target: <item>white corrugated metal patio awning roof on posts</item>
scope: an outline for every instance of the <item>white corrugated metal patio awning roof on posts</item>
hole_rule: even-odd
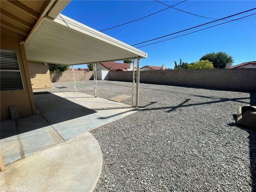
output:
[[[32,61],[82,64],[146,58],[147,53],[59,14],[44,18],[25,44]]]

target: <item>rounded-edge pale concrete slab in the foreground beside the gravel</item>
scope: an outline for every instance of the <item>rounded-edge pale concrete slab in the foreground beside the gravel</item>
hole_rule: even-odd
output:
[[[6,166],[1,191],[93,191],[101,169],[99,143],[86,132]]]

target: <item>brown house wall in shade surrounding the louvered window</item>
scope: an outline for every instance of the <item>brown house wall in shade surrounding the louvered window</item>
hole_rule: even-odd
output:
[[[26,116],[36,113],[34,95],[30,83],[30,75],[26,60],[26,53],[23,44],[19,43],[19,38],[8,35],[1,31],[1,48],[16,50],[20,65],[23,90],[1,91],[1,120],[10,119],[9,106],[17,106],[19,116]]]

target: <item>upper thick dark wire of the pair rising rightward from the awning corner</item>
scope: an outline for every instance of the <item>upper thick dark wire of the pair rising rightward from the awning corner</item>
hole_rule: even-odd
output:
[[[164,35],[164,36],[161,36],[161,37],[156,37],[156,38],[153,38],[153,39],[149,39],[149,40],[147,40],[147,41],[143,41],[143,42],[140,42],[140,43],[133,44],[132,46],[139,45],[139,44],[142,44],[142,43],[147,43],[147,42],[154,41],[154,40],[159,39],[159,38],[164,38],[164,37],[167,37],[167,36],[171,36],[171,35],[174,35],[174,34],[178,34],[178,33],[181,33],[181,32],[183,32],[183,31],[187,31],[187,30],[194,29],[194,28],[197,28],[197,27],[205,26],[205,25],[207,25],[207,24],[209,24],[209,23],[213,23],[213,22],[217,22],[217,21],[220,21],[220,20],[223,20],[223,19],[227,19],[227,18],[230,18],[230,17],[234,17],[234,16],[236,16],[236,15],[243,14],[243,13],[246,13],[246,12],[249,12],[249,11],[253,11],[253,10],[255,10],[255,9],[256,9],[256,8],[253,8],[253,9],[246,10],[246,11],[243,11],[243,12],[239,12],[239,13],[236,13],[236,14],[233,14],[233,15],[229,15],[229,16],[227,16],[227,17],[220,18],[220,19],[217,19],[217,20],[214,20],[214,21],[206,22],[206,23],[203,23],[203,24],[198,25],[198,26],[190,27],[190,28],[188,28],[188,29],[183,29],[183,30],[177,31],[177,32],[175,32],[175,33],[171,33],[171,34],[167,34],[167,35]]]

